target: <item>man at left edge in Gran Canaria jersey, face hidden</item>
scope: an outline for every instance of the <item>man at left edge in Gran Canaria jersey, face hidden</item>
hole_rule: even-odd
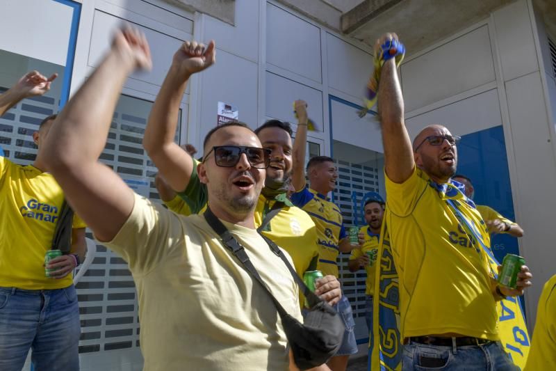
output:
[[[0,113],[26,97],[43,95],[47,79],[33,71],[0,95]],[[73,255],[51,260],[58,270],[45,276],[64,194],[44,164],[43,143],[54,118],[40,123],[33,141],[33,164],[20,166],[0,157],[0,370],[20,371],[31,352],[37,370],[79,370],[79,306],[72,271],[85,254],[85,224],[74,216]]]

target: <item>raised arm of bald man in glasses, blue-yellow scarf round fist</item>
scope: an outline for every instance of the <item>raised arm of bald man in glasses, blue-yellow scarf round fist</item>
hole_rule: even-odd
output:
[[[375,45],[379,53],[384,42],[398,40],[395,33],[386,33]],[[411,140],[404,123],[404,100],[394,58],[384,62],[378,88],[378,111],[384,144],[384,168],[395,183],[409,178],[415,167]]]

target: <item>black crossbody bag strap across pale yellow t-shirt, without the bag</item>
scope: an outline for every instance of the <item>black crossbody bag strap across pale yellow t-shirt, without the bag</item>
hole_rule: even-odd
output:
[[[272,299],[272,301],[275,303],[275,306],[278,310],[280,317],[284,317],[285,315],[288,315],[284,307],[281,306],[281,304],[272,294],[268,286],[264,283],[263,279],[259,275],[259,271],[256,270],[253,263],[249,259],[247,252],[245,252],[245,248],[241,246],[241,244],[236,240],[236,238],[231,234],[231,232],[227,230],[224,224],[222,224],[222,222],[213,214],[211,208],[207,207],[203,215],[208,225],[211,226],[211,228],[213,228],[213,230],[216,233],[218,233],[218,235],[220,235],[220,238],[222,238],[222,243],[224,244],[224,246],[226,246],[229,249],[229,251],[231,251],[231,253],[234,254],[234,256],[241,262],[241,264],[243,264],[243,267],[247,269],[247,271],[251,274],[251,276],[253,276],[253,278],[255,278],[256,281],[258,281],[261,284],[261,286],[268,294],[270,299]],[[268,246],[270,247],[270,250],[276,255],[278,255],[281,258],[281,260],[283,260],[286,263],[286,267],[288,267],[290,273],[292,274],[293,278],[297,282],[297,285],[300,285],[300,287],[302,287],[303,293],[306,295],[306,297],[311,297],[312,295],[311,299],[309,299],[309,303],[311,304],[311,307],[313,306],[313,303],[315,303],[316,305],[317,303],[322,301],[322,299],[320,299],[319,297],[316,296],[316,294],[311,292],[311,290],[309,290],[309,287],[306,287],[304,282],[299,278],[299,276],[297,276],[297,273],[295,273],[295,269],[293,269],[291,264],[288,262],[288,259],[286,259],[284,254],[281,252],[280,248],[276,246],[274,242],[270,241],[270,239],[268,239],[267,237],[263,235],[261,236],[263,237],[263,239],[265,239],[265,242],[267,242]]]

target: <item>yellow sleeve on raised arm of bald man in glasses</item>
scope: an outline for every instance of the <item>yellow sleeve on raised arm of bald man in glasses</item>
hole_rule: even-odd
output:
[[[426,187],[429,187],[427,180],[424,179],[423,171],[414,168],[411,176],[403,183],[395,183],[390,180],[386,172],[386,205],[393,214],[407,216],[414,210],[419,197],[423,194]]]

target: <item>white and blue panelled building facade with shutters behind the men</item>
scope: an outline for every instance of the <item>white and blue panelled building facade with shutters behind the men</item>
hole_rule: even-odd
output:
[[[200,148],[217,123],[219,102],[255,128],[270,118],[295,123],[293,101],[306,100],[316,127],[309,132],[308,157],[335,159],[340,177],[332,196],[347,225],[364,223],[366,196],[386,196],[379,123],[371,114],[357,116],[371,48],[284,1],[231,3],[234,17],[217,19],[163,0],[3,1],[0,29],[11,37],[0,39],[0,88],[28,70],[60,75],[47,95],[24,100],[0,118],[5,156],[20,164],[33,160],[31,135],[40,120],[58,111],[92,73],[113,29],[130,22],[147,35],[154,68],[126,81],[101,160],[131,187],[158,199],[156,168],[141,145],[152,102],[181,42],[214,39],[217,63],[191,79],[176,141]],[[29,8],[35,19],[29,19]],[[535,286],[525,297],[531,330],[542,283],[556,273],[555,76],[556,35],[550,38],[531,0],[508,3],[441,42],[408,50],[401,66],[410,135],[441,123],[462,136],[458,172],[473,179],[477,203],[516,219],[525,230],[519,241],[494,237],[493,249],[500,259],[523,255],[534,273]],[[347,258],[338,258],[341,281],[366,354],[365,274],[350,273]],[[125,262],[99,245],[78,293],[82,370],[140,370],[138,305]]]

